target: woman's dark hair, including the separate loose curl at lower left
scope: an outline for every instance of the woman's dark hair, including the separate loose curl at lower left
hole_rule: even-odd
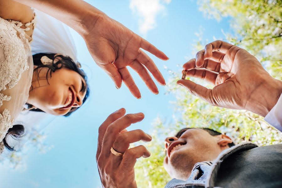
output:
[[[49,59],[53,60],[52,63],[44,65],[41,62],[41,57],[47,56]],[[74,70],[76,71],[82,78],[85,80],[86,83],[86,95],[82,100],[82,104],[86,101],[87,97],[89,96],[89,87],[87,84],[87,76],[85,72],[70,58],[69,56],[64,56],[64,55],[56,55],[56,54],[45,54],[45,53],[40,53],[40,54],[35,54],[32,56],[33,57],[33,64],[36,65],[37,67],[33,70],[34,72],[37,71],[38,74],[40,72],[40,69],[43,67],[49,68],[47,73],[46,73],[46,79],[48,81],[48,76],[52,76],[52,72],[55,72],[58,69],[61,69],[62,67],[66,67],[67,69]],[[57,58],[58,61],[54,63],[54,60]],[[32,89],[32,88],[31,88]],[[28,107],[32,107],[30,104],[27,104]],[[78,107],[79,108],[79,107]],[[76,111],[78,108],[72,108],[66,115],[65,117],[68,117],[69,115],[72,114],[72,112]],[[40,109],[32,109],[31,111],[37,111],[37,112],[43,112]],[[20,137],[24,136],[24,126],[23,125],[14,125],[12,128],[9,128],[8,133],[6,134],[5,138],[3,138],[3,144],[4,146],[10,150],[13,151],[14,148],[11,147],[7,143],[7,138],[8,136],[12,136],[14,139],[18,139]]]

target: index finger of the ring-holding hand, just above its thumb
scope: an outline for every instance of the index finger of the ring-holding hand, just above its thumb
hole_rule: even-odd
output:
[[[187,70],[186,76],[204,80],[208,82],[209,84],[212,84],[215,86],[215,80],[217,77],[217,73],[212,72],[210,70],[206,70],[206,69],[192,69],[192,70]]]

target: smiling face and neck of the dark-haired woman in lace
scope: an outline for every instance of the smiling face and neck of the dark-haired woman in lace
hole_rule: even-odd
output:
[[[76,110],[83,104],[88,89],[85,74],[80,69],[72,70],[76,64],[70,58],[62,57],[56,56],[54,63],[47,67],[36,66],[34,58],[34,73],[27,101],[33,107],[53,115],[66,115]],[[55,71],[52,70],[53,66],[56,67]]]

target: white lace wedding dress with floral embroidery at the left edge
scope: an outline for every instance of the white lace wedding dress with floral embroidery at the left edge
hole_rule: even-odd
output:
[[[29,43],[34,27],[35,19],[22,24],[0,18],[0,142],[29,96],[33,74]]]

